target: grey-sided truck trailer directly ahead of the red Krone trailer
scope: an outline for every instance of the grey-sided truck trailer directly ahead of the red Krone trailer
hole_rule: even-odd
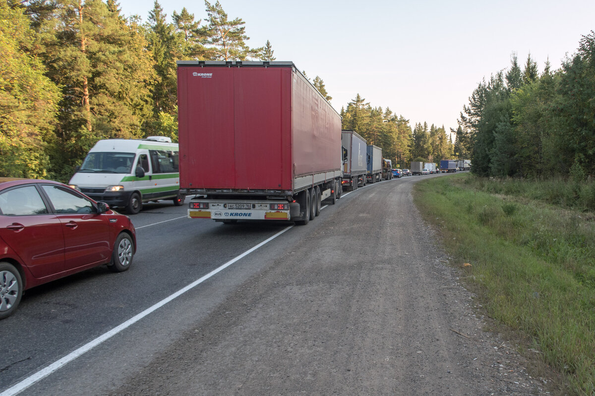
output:
[[[364,138],[349,130],[341,131],[341,144],[347,150],[343,157],[342,187],[353,191],[359,185],[366,185],[368,145]]]

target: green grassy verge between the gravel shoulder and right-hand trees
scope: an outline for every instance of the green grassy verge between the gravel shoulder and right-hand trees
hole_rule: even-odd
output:
[[[464,281],[488,315],[530,337],[572,392],[595,395],[595,216],[586,197],[560,198],[577,186],[585,195],[562,180],[465,173],[417,183],[414,199],[456,262],[471,264]]]

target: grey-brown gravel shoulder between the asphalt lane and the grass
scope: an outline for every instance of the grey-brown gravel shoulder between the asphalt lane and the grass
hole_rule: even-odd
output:
[[[411,186],[382,183],[326,208],[112,394],[547,394],[516,346],[484,330]]]

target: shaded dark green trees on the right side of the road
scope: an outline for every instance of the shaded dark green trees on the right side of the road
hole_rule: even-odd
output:
[[[463,107],[455,151],[480,176],[543,178],[595,172],[595,33],[543,72],[528,55],[478,84]]]

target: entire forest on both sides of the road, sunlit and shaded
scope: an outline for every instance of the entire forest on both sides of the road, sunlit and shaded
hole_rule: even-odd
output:
[[[208,0],[201,17],[182,8],[171,21],[155,1],[144,23],[115,0],[0,2],[0,176],[67,181],[100,139],[177,141],[176,61],[275,60],[269,41],[246,44],[245,25]],[[311,83],[332,101],[321,77]],[[344,129],[401,167],[471,159],[480,176],[586,179],[595,172],[595,33],[559,69],[546,62],[539,72],[531,55],[519,65],[513,53],[471,93],[456,131],[412,128],[359,93],[340,113]]]

